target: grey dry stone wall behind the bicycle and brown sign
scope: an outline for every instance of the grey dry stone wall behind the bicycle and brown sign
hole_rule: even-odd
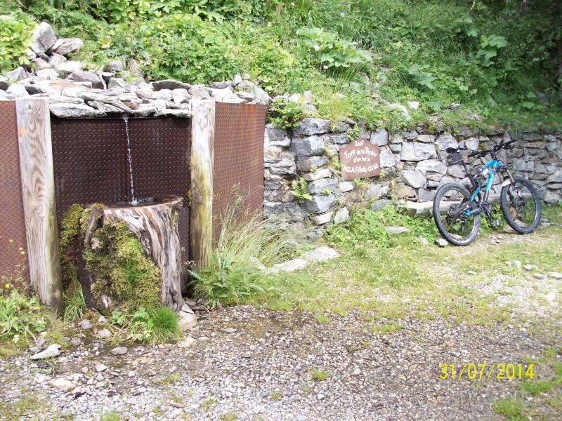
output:
[[[490,149],[499,142],[516,139],[514,147],[498,157],[518,174],[532,180],[544,201],[562,201],[562,133],[481,132],[459,126],[453,132],[417,130],[389,134],[384,128],[362,131],[360,137],[380,148],[381,175],[344,181],[339,166],[339,149],[349,142],[353,121],[330,128],[330,121],[304,119],[285,131],[266,127],[264,161],[264,203],[266,215],[280,215],[290,222],[325,225],[342,222],[351,206],[377,210],[390,201],[432,201],[447,182],[469,184],[461,165],[447,166],[447,147],[469,151]],[[489,158],[488,158],[489,159]],[[469,159],[478,168],[488,159]],[[306,180],[312,199],[299,203],[292,182]],[[499,193],[499,180],[492,192]]]

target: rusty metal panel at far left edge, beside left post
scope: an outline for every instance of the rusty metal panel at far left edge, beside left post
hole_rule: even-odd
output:
[[[27,253],[27,241],[15,102],[0,101],[0,127],[0,273],[18,276],[25,266],[25,255],[19,248]],[[30,289],[27,270],[22,273],[22,278],[23,282],[15,283],[15,286],[27,291]]]

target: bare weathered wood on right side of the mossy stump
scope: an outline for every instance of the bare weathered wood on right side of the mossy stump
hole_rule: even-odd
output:
[[[137,236],[145,254],[160,269],[162,304],[179,312],[183,307],[183,298],[178,210],[183,204],[183,198],[155,196],[154,199],[136,206],[107,206],[103,208],[103,218],[125,222]]]

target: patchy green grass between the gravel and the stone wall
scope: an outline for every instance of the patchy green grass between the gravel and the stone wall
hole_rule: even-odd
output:
[[[560,218],[559,209],[547,210],[549,218]],[[330,312],[345,316],[355,310],[369,320],[384,320],[389,325],[400,325],[400,319],[407,314],[483,326],[523,323],[528,319],[518,315],[518,305],[505,305],[502,300],[511,302],[511,288],[522,287],[528,303],[548,305],[532,272],[562,271],[562,229],[554,225],[527,236],[506,228],[481,234],[468,247],[439,248],[431,242],[421,246],[414,241],[415,234],[404,240],[389,242],[384,237],[379,241],[377,234],[384,231],[384,223],[376,220],[372,222],[376,227],[371,229],[363,223],[365,220],[360,222],[338,229],[334,243],[341,252],[339,258],[266,276],[262,280],[263,293],[253,295],[247,302],[268,302],[272,309],[307,309],[319,323],[328,322]],[[430,229],[425,225],[416,227],[416,221],[400,223],[413,226],[411,232]],[[391,219],[388,225],[397,224]],[[360,229],[373,232],[370,241],[362,241],[367,234]],[[499,234],[504,239],[490,244],[490,237]],[[518,269],[513,260],[536,265],[537,269]],[[499,274],[503,276],[499,289],[486,293],[481,286]],[[553,283],[552,288],[562,293],[562,286]],[[551,313],[551,321],[561,318],[559,312]],[[549,326],[556,330],[556,323]]]

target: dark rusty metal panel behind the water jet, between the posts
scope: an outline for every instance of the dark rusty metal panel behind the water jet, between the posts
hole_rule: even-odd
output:
[[[129,119],[135,196],[190,189],[191,119]],[[53,119],[55,196],[60,220],[73,203],[131,201],[123,119]],[[182,260],[189,259],[189,209],[180,211]]]

